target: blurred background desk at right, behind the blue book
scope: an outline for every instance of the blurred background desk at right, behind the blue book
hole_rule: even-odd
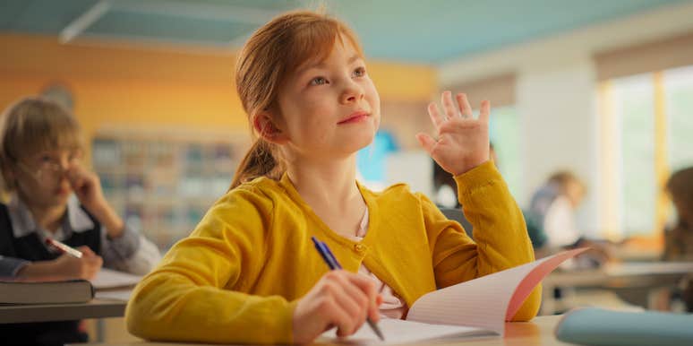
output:
[[[555,311],[557,287],[642,289],[675,286],[693,273],[693,262],[624,262],[600,269],[552,272],[543,281],[542,315]]]

